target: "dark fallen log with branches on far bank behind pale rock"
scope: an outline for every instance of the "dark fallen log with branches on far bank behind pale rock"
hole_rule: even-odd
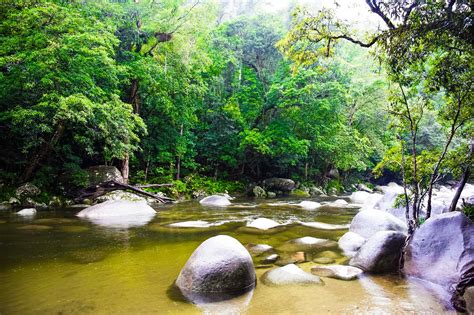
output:
[[[130,190],[139,195],[144,195],[146,197],[153,198],[160,203],[172,203],[175,201],[174,199],[171,199],[168,197],[157,196],[155,194],[144,191],[143,189],[140,189],[138,187],[128,185],[128,184],[123,184],[115,180],[102,182],[100,184],[82,189],[79,193],[79,196],[75,198],[74,201],[82,202],[84,199],[96,199],[97,197],[100,197],[102,195],[105,195],[108,192],[115,191],[115,190]]]

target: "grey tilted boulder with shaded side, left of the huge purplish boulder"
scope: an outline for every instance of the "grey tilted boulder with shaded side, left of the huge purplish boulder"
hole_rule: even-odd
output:
[[[349,264],[371,273],[396,271],[405,239],[401,232],[377,232],[362,245]]]

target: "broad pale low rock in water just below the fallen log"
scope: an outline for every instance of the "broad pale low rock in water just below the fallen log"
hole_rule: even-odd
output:
[[[155,214],[145,201],[110,200],[86,208],[77,214],[80,218],[104,218]]]

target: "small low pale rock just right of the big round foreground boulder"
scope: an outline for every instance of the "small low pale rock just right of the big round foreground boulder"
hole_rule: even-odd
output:
[[[288,284],[324,284],[324,282],[318,276],[307,273],[294,264],[289,264],[284,267],[275,268],[265,272],[262,276],[262,282],[270,286]]]

